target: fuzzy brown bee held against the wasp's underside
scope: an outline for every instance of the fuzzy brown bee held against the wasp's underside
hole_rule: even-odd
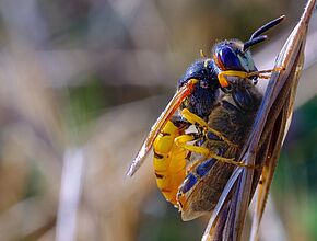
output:
[[[222,157],[237,158],[248,137],[261,97],[251,81],[236,81],[231,91],[220,97],[209,115],[208,124],[238,147],[232,147],[212,136],[207,138],[202,146]],[[186,202],[181,215],[184,220],[191,220],[213,210],[234,169],[233,164],[191,153],[190,160],[197,162],[197,159],[200,164],[190,173],[185,194]],[[258,176],[255,179],[258,180]]]

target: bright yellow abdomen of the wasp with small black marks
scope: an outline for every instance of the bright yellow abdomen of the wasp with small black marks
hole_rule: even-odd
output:
[[[186,156],[184,148],[175,145],[174,139],[184,135],[184,129],[167,122],[153,144],[156,184],[166,200],[177,205],[176,194],[186,176]]]

